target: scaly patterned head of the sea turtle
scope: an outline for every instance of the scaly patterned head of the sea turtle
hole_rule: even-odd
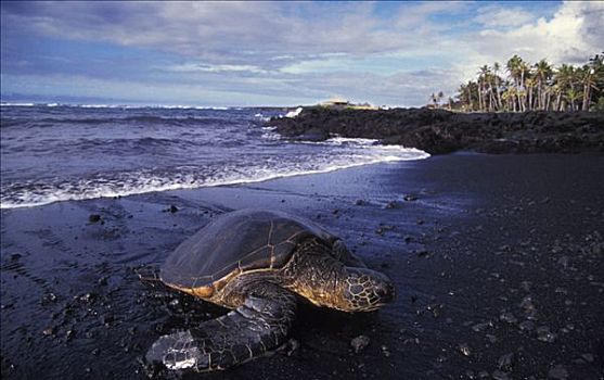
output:
[[[373,312],[395,297],[395,287],[386,275],[368,268],[346,267],[342,278],[340,303],[343,312]]]

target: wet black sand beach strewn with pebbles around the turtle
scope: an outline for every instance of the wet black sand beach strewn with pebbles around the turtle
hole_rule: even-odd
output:
[[[137,268],[253,206],[343,237],[397,299],[365,315],[301,307],[297,349],[184,378],[601,379],[602,173],[602,155],[454,154],[4,210],[2,378],[147,378],[155,339],[223,311],[145,286]],[[359,335],[370,343],[355,353]]]

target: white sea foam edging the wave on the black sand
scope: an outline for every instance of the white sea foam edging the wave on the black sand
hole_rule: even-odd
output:
[[[119,179],[80,179],[75,182],[60,183],[53,189],[42,187],[38,190],[23,190],[18,194],[13,193],[11,199],[7,199],[3,194],[0,201],[0,208],[30,207],[60,201],[126,197],[155,191],[261,182],[274,178],[329,173],[377,163],[422,160],[429,156],[428,153],[417,149],[400,145],[376,145],[375,141],[372,139],[333,138],[319,142],[319,144],[333,144],[334,147],[348,144],[352,149],[345,154],[323,156],[314,162],[305,160],[281,166],[252,166],[246,167],[245,170],[236,166],[226,166],[214,168],[211,175],[204,173],[198,175],[192,173],[190,167],[183,166],[180,167],[182,173],[179,174],[177,170],[176,174],[169,177],[162,177],[145,172],[132,172],[121,176]],[[28,185],[33,183],[21,183],[22,188],[31,188]]]

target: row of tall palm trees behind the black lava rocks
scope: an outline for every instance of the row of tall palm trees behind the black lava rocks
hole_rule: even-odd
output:
[[[557,67],[544,59],[531,64],[516,54],[504,67],[496,62],[476,74],[444,105],[442,91],[433,93],[429,106],[465,112],[604,111],[604,52],[582,66]]]

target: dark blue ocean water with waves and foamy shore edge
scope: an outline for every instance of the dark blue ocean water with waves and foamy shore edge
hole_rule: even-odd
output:
[[[277,111],[1,106],[2,208],[261,181],[426,153],[374,140],[285,141]]]

